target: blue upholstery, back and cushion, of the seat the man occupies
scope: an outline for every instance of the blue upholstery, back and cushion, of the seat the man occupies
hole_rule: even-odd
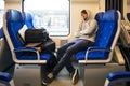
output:
[[[87,59],[104,60],[108,58],[110,46],[117,31],[118,13],[116,10],[109,10],[105,13],[101,12],[95,15],[95,19],[99,24],[99,31],[95,38],[94,46],[88,48],[88,51],[91,49],[91,52],[88,54]],[[84,58],[86,51],[76,54],[77,61],[84,60]]]

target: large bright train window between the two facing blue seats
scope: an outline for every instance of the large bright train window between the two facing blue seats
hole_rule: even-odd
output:
[[[24,11],[34,16],[35,27],[44,27],[50,35],[69,34],[69,0],[25,0]]]

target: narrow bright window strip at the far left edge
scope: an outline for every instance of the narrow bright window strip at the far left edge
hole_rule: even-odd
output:
[[[3,26],[4,0],[0,0],[0,28]]]

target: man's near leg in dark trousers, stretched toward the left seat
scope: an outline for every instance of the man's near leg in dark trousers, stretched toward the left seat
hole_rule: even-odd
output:
[[[61,58],[61,60],[58,61],[58,63],[54,67],[52,73],[54,75],[57,75],[58,72],[63,69],[64,66],[66,66],[69,60],[70,57],[76,54],[79,51],[83,51],[87,49],[88,46],[91,46],[93,43],[87,40],[78,40],[75,44],[73,44],[72,46],[69,46],[66,49],[66,53],[64,54],[64,56]]]

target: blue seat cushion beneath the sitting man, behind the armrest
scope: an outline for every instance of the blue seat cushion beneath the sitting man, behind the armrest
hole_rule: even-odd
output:
[[[76,60],[84,60],[84,56],[86,56],[86,51],[83,52],[79,52],[76,54]],[[104,52],[94,52],[94,53],[90,53],[88,55],[89,60],[104,60],[107,59],[108,57],[108,53],[104,53]]]

